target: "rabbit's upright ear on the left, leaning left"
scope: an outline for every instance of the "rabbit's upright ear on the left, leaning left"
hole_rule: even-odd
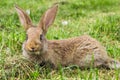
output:
[[[21,24],[24,26],[25,30],[27,30],[29,27],[32,26],[32,21],[30,17],[18,6],[15,6],[15,9],[18,13]]]

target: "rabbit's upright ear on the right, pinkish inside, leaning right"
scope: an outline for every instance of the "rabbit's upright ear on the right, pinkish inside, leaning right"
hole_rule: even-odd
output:
[[[43,14],[38,27],[42,28],[44,34],[46,34],[48,27],[54,22],[57,9],[58,5],[55,4]]]

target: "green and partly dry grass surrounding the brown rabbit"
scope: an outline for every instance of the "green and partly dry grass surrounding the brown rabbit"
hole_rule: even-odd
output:
[[[59,11],[46,37],[65,39],[89,34],[101,42],[108,55],[120,60],[119,0],[4,0],[0,2],[0,79],[1,80],[119,80],[120,70],[71,69],[51,70],[23,58],[21,46],[25,31],[14,4],[30,10],[35,24],[52,4],[59,2]],[[68,21],[63,25],[62,21]]]

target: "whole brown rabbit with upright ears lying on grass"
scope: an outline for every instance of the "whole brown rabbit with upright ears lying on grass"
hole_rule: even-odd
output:
[[[65,39],[47,40],[48,27],[54,22],[58,5],[49,8],[37,26],[19,7],[15,7],[21,24],[24,26],[27,39],[23,43],[23,55],[37,63],[50,62],[55,68],[58,65],[77,65],[80,68],[105,66],[110,69],[120,68],[120,62],[113,60],[101,44],[88,35]]]

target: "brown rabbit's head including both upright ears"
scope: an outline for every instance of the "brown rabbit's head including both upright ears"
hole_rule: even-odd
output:
[[[15,6],[21,24],[26,31],[26,41],[24,42],[24,49],[29,54],[41,54],[47,49],[45,34],[48,27],[54,22],[58,5],[49,8],[41,17],[37,26],[32,24],[30,17],[18,6]]]

